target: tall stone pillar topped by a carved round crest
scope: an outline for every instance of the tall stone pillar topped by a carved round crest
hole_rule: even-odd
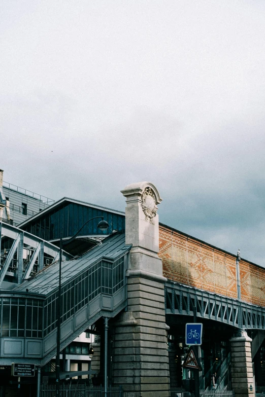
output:
[[[118,316],[113,333],[113,381],[125,397],[168,397],[169,360],[164,312],[162,262],[158,257],[157,204],[154,185],[129,185],[125,240],[131,244],[127,270],[127,312]]]

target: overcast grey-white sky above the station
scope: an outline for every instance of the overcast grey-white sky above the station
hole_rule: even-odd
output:
[[[0,168],[265,266],[264,0],[2,0]]]

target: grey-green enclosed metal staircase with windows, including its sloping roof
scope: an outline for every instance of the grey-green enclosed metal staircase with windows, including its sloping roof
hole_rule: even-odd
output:
[[[117,233],[82,257],[62,262],[60,351],[100,317],[114,317],[124,309],[129,250],[124,234]],[[8,324],[4,326],[3,365],[10,365],[16,357],[17,363],[26,358],[28,364],[44,366],[56,354],[58,274],[57,262],[12,291],[0,292],[5,296],[4,313],[16,305],[18,324],[21,311],[25,327],[12,338],[12,322],[9,329]]]

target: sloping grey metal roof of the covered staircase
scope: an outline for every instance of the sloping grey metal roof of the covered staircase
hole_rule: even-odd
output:
[[[90,251],[86,252],[82,257],[62,262],[61,267],[61,284],[76,278],[79,274],[85,271],[93,263],[100,261],[102,258],[115,260],[122,254],[130,250],[130,245],[125,245],[125,234],[115,234],[106,238],[102,244],[97,245]],[[37,273],[29,281],[24,281],[22,284],[14,288],[13,291],[26,291],[48,295],[53,292],[59,283],[59,262],[48,266],[39,273]]]

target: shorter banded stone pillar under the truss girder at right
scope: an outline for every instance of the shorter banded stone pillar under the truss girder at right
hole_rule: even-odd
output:
[[[251,342],[246,331],[240,331],[239,335],[231,338],[231,381],[235,397],[254,397],[255,384],[253,379],[253,367],[251,356]],[[250,390],[252,385],[252,391]]]

